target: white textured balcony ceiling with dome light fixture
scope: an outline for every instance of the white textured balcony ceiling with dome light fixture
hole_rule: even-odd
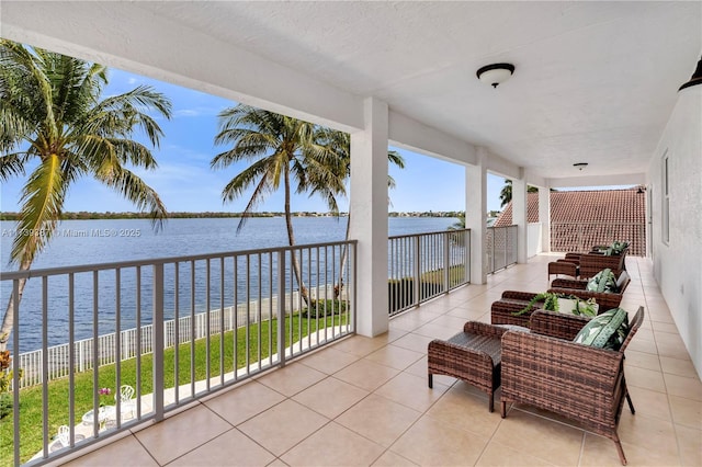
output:
[[[589,175],[645,172],[678,87],[702,52],[701,2],[152,1],[60,10],[46,3],[30,19],[20,3],[27,2],[0,14],[10,38],[71,42],[78,53],[105,53],[111,65],[114,56],[136,54],[115,42],[163,52],[167,37],[206,37],[332,90],[376,96],[393,112],[486,146],[544,179],[580,175],[573,163],[581,161]],[[94,32],[52,29],[61,14],[65,27]],[[93,43],[90,34],[107,38]],[[200,55],[203,62],[227,60]],[[167,68],[154,61],[143,65]],[[475,71],[497,61],[516,71],[492,89]],[[206,82],[200,68],[192,75]]]

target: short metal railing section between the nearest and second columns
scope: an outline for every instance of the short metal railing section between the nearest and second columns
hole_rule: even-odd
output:
[[[389,237],[390,316],[467,284],[469,267],[469,229]]]

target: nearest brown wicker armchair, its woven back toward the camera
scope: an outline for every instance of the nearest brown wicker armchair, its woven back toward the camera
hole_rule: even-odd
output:
[[[624,378],[624,350],[643,319],[644,309],[639,307],[619,351],[570,342],[575,329],[587,319],[543,310],[533,314],[532,332],[506,332],[501,362],[502,418],[507,417],[508,402],[555,412],[612,440],[622,465],[626,465],[616,434],[624,399],[634,413]]]

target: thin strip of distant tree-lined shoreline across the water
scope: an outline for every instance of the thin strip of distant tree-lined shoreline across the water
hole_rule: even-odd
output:
[[[283,217],[285,213],[252,213],[250,217]],[[339,213],[338,217],[348,217],[348,213]],[[422,213],[388,213],[388,217],[461,217],[463,212],[422,212]],[[169,219],[201,219],[201,218],[227,218],[244,217],[244,213],[168,213]],[[337,217],[331,213],[295,212],[293,217]],[[150,219],[149,213],[94,213],[81,210],[78,213],[64,213],[61,220],[91,220],[91,219]],[[0,213],[0,220],[20,220],[20,213]]]

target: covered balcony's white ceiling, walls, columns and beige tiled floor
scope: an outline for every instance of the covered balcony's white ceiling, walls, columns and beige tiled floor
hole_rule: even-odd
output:
[[[623,305],[643,305],[647,315],[626,358],[637,413],[624,410],[620,434],[632,465],[699,464],[700,77],[678,90],[702,53],[701,9],[3,1],[2,37],[351,134],[356,335],[158,413],[152,426],[131,425],[84,457],[56,460],[616,465],[609,440],[564,420],[520,407],[502,420],[488,413],[482,394],[450,378],[428,389],[424,360],[432,338],[452,335],[468,319],[489,321],[489,305],[503,289],[545,289],[550,189],[638,184],[647,197],[648,251],[627,264],[633,284]],[[476,77],[494,64],[513,67],[496,87]],[[471,285],[394,319],[388,144],[463,166],[466,187],[456,196],[465,200],[471,229]],[[512,180],[517,226],[518,264],[495,275],[487,267],[488,172]],[[536,242],[529,239],[528,185],[540,191]],[[529,258],[534,243],[541,254]]]

